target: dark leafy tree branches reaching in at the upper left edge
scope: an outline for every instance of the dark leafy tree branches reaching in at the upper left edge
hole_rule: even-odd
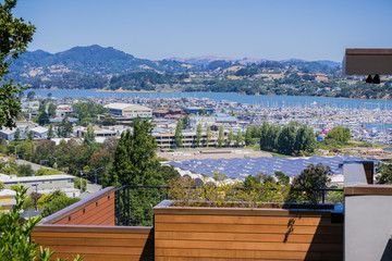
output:
[[[24,88],[13,85],[13,79],[5,79],[11,63],[23,53],[27,44],[33,40],[35,26],[15,18],[12,10],[16,0],[5,0],[0,3],[0,128],[15,127],[14,119],[21,112],[21,100],[17,97]]]

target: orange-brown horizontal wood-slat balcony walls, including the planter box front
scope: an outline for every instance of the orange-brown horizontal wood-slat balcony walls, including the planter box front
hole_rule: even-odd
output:
[[[343,223],[332,215],[330,210],[160,204],[155,227],[115,226],[114,188],[109,187],[48,216],[32,238],[56,251],[53,258],[78,253],[87,261],[342,260]]]

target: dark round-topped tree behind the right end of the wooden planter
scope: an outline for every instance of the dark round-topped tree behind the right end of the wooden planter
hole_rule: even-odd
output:
[[[292,182],[290,199],[294,201],[308,201],[317,203],[321,191],[331,181],[329,176],[331,170],[322,163],[317,165],[309,164],[299,175],[295,176]]]

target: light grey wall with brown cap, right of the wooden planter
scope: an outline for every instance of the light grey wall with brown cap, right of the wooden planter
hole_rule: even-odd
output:
[[[364,166],[344,164],[344,260],[392,260],[392,186],[369,185]]]

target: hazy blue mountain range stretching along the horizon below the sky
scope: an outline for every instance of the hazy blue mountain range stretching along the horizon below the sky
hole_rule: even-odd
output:
[[[51,78],[64,73],[79,73],[88,75],[111,76],[131,72],[155,71],[159,73],[184,73],[216,69],[208,65],[212,62],[225,62],[228,64],[250,65],[267,61],[266,59],[231,59],[218,57],[172,58],[161,61],[135,58],[128,53],[112,47],[97,45],[88,47],[74,47],[70,50],[49,53],[42,50],[27,51],[10,67],[9,77],[15,80],[26,78]],[[307,63],[304,60],[286,60],[281,63]],[[330,67],[339,66],[333,61],[316,61]]]

